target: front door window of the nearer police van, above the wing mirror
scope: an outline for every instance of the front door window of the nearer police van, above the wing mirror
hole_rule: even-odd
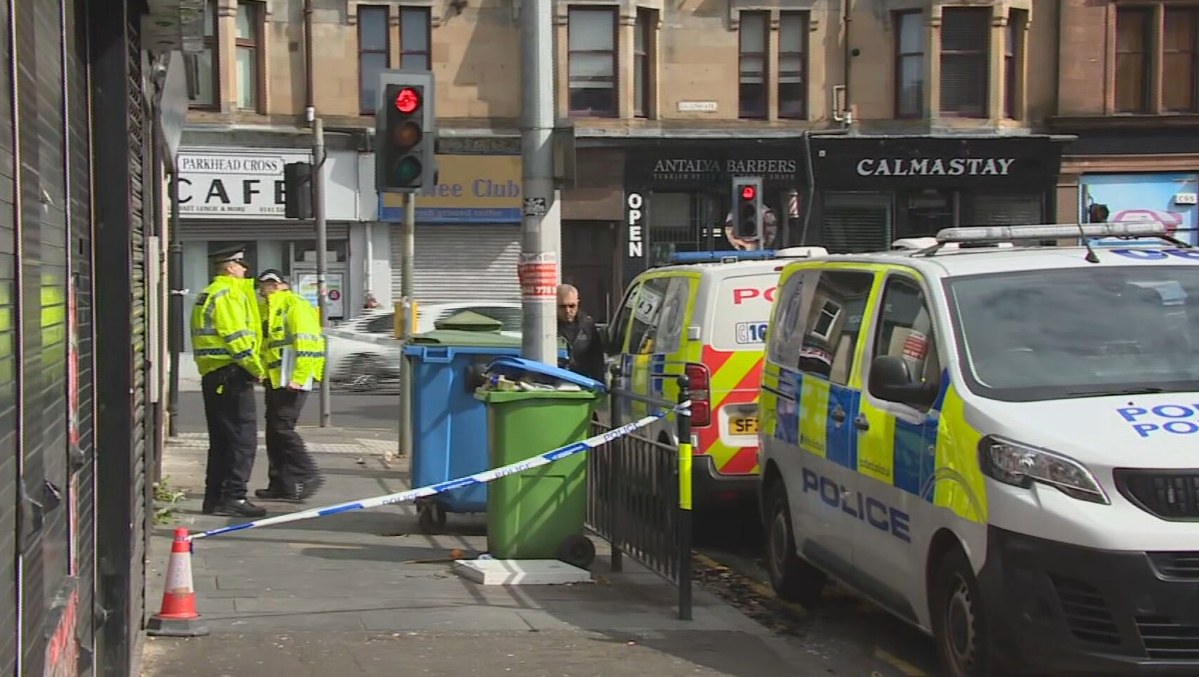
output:
[[[940,380],[933,316],[920,283],[906,276],[891,276],[882,289],[873,357],[884,355],[902,357],[914,382]]]

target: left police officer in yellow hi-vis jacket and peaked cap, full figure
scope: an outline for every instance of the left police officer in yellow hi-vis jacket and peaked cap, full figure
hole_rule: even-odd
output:
[[[258,448],[254,383],[266,369],[245,256],[242,247],[210,255],[216,276],[192,308],[192,351],[209,424],[204,514],[260,518],[266,510],[246,500],[246,485]]]

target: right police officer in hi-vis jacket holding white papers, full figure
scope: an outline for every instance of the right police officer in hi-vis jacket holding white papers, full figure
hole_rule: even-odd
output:
[[[258,276],[263,297],[263,364],[266,367],[266,457],[270,484],[259,498],[299,502],[312,497],[324,479],[296,433],[308,393],[325,377],[325,337],[320,314],[288,285],[283,273]]]

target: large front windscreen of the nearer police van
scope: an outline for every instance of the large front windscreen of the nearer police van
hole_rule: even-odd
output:
[[[1199,266],[946,280],[971,391],[1007,401],[1199,389]]]

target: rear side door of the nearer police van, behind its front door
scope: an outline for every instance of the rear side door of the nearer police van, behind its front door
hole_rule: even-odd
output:
[[[862,316],[875,273],[824,270],[802,284],[811,301],[799,352],[800,477],[791,496],[796,530],[811,542],[805,556],[850,576],[854,568],[854,504],[857,486],[857,416],[860,392],[855,363],[862,338]]]

